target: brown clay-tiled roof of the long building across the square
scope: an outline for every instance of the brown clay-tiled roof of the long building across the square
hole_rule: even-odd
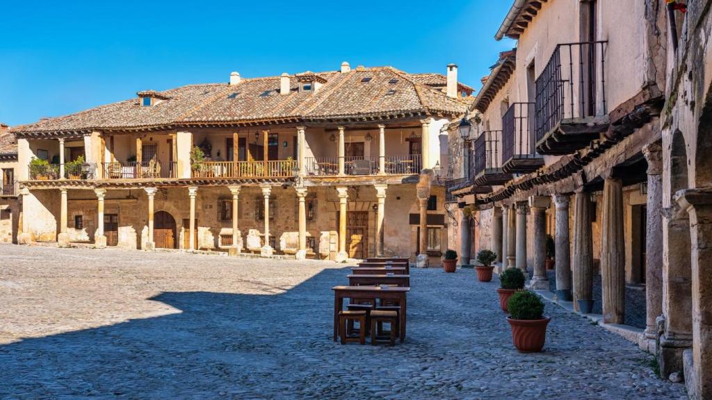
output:
[[[298,90],[298,78],[304,74],[290,76],[291,90],[287,95],[279,93],[279,76],[243,78],[236,85],[189,85],[157,92],[167,100],[150,107],[143,107],[139,98],[133,98],[21,125],[14,127],[12,132],[131,130],[226,122],[387,117],[416,112],[459,115],[473,100],[449,98],[441,90],[422,83],[423,74],[410,75],[391,67],[309,74],[318,76],[318,81],[323,82],[316,92]]]

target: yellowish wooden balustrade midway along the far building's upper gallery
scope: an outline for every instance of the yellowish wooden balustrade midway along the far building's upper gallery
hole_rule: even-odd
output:
[[[194,178],[289,178],[298,172],[294,160],[219,161],[193,164]]]

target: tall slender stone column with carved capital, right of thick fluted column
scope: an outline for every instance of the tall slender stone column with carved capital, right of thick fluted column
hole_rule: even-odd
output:
[[[659,142],[643,147],[648,162],[648,196],[645,233],[645,337],[656,340],[655,320],[663,313],[663,163]]]

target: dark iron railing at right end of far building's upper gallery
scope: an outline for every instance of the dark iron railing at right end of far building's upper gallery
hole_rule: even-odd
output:
[[[330,177],[339,174],[339,157],[307,157],[306,172],[314,177]],[[419,174],[422,169],[420,154],[384,157],[386,174]],[[375,175],[379,172],[379,157],[344,157],[344,174]]]

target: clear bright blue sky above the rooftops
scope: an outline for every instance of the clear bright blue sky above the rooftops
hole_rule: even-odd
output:
[[[12,1],[0,122],[19,125],[189,83],[392,65],[480,87],[511,1]]]

